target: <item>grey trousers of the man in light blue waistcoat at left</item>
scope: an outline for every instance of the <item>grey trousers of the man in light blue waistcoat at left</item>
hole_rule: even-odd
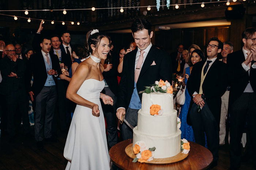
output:
[[[35,140],[52,137],[52,120],[57,92],[55,86],[44,86],[35,98]]]

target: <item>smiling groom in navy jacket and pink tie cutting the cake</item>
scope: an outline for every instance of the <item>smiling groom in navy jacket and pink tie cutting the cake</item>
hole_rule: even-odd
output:
[[[165,52],[152,45],[153,31],[151,31],[149,20],[136,19],[131,30],[138,49],[124,56],[116,115],[121,120],[122,115],[125,114],[125,119],[135,127],[142,100],[142,94],[139,94],[139,91],[145,90],[144,86],[154,84],[159,79],[170,82],[172,64]],[[121,128],[123,140],[133,137],[132,129],[125,123]]]

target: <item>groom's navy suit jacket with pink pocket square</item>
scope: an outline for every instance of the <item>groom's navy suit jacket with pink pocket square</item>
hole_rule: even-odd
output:
[[[126,110],[129,106],[135,81],[135,59],[138,49],[133,50],[124,56],[123,71],[119,83],[119,95],[117,101],[117,108],[124,107]],[[155,62],[155,65],[152,63]],[[167,80],[172,81],[172,68],[169,56],[152,46],[146,56],[138,81],[136,83],[137,91],[144,91],[144,86],[150,86],[155,81]],[[139,93],[140,101],[142,100],[142,93]]]

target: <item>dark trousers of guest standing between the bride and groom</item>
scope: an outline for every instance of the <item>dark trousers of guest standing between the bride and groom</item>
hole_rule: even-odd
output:
[[[107,122],[108,130],[108,145],[110,147],[117,144],[117,117],[116,117],[116,102],[117,97],[109,89],[109,87],[104,87],[105,94],[110,96],[114,100],[114,105],[102,104],[102,110]]]

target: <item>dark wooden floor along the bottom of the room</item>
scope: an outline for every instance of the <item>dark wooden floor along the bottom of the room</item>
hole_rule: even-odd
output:
[[[9,143],[6,135],[0,138],[0,170],[63,170],[67,160],[63,157],[63,150],[67,135],[59,133],[59,142],[44,143],[44,149],[36,147],[33,137],[24,138],[22,133],[16,137],[15,143]],[[252,160],[244,158],[241,170],[252,170]],[[220,147],[218,166],[215,170],[229,168],[229,146]]]

